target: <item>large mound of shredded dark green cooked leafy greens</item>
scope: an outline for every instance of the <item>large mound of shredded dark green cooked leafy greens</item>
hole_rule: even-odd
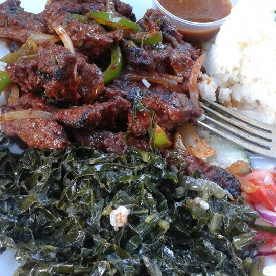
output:
[[[212,182],[179,177],[158,153],[15,155],[8,145],[0,134],[0,246],[16,249],[18,276],[239,276],[257,254],[257,213]],[[109,214],[120,205],[131,213],[116,232]]]

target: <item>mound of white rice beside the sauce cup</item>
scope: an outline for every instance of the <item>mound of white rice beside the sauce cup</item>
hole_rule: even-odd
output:
[[[276,1],[240,0],[206,56],[199,89],[246,116],[276,124]]]

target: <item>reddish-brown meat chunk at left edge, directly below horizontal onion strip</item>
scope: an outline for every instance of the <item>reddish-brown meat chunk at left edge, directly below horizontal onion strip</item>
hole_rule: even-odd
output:
[[[67,135],[55,121],[18,119],[1,124],[2,131],[10,137],[19,137],[29,148],[62,149],[68,145]]]

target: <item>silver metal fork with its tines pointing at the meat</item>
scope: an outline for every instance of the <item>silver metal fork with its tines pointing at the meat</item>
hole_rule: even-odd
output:
[[[217,103],[203,102],[204,120],[197,121],[197,125],[251,153],[276,159],[276,126],[242,116]]]

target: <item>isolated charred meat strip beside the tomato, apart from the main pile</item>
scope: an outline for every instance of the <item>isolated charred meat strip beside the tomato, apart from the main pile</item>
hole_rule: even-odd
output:
[[[165,156],[167,153],[168,151],[164,151]],[[200,175],[199,178],[217,183],[223,189],[229,191],[234,198],[241,194],[240,182],[233,174],[217,166],[210,165],[187,151],[181,151],[180,154],[184,157],[186,162],[186,167],[184,169],[185,175],[193,176],[194,172],[197,171]],[[178,161],[171,158],[168,158],[168,165],[179,167]]]

